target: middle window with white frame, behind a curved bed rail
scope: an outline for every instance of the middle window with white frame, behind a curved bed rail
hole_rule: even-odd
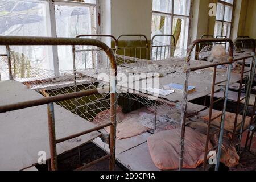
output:
[[[186,49],[188,44],[190,0],[153,0],[152,35],[172,34],[176,47]],[[158,37],[158,42],[170,44],[170,39]]]

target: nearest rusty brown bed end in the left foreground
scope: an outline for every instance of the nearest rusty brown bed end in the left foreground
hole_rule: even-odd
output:
[[[84,45],[84,46],[96,46],[104,50],[106,55],[110,60],[110,67],[114,69],[114,72],[110,72],[110,76],[114,77],[117,74],[117,65],[115,61],[115,56],[112,51],[106,44],[100,42],[99,40],[94,39],[82,39],[82,38],[46,38],[46,37],[21,37],[21,36],[0,36],[0,45],[3,46],[32,46],[32,45],[47,45],[47,46],[57,46],[57,45]],[[9,60],[10,63],[10,60]],[[113,85],[114,83],[114,85]],[[51,153],[51,170],[57,170],[57,153],[56,153],[56,144],[64,142],[66,140],[79,137],[84,134],[91,133],[93,131],[97,131],[103,129],[106,126],[110,126],[110,152],[109,154],[102,156],[101,158],[94,160],[78,169],[84,169],[92,164],[100,162],[104,159],[109,160],[109,169],[113,170],[115,167],[115,132],[116,132],[116,99],[117,95],[115,92],[115,82],[112,82],[112,85],[108,87],[110,89],[110,122],[105,125],[94,127],[93,129],[89,129],[83,131],[81,133],[77,133],[62,139],[57,139],[55,137],[55,118],[54,118],[54,105],[53,102],[59,102],[64,100],[70,100],[72,98],[78,98],[83,96],[89,96],[92,94],[99,93],[98,89],[85,90],[81,92],[61,94],[59,96],[46,97],[38,100],[19,102],[16,104],[10,104],[5,106],[0,106],[0,113],[5,113],[8,111],[24,109],[28,107],[34,107],[39,105],[47,104],[47,114],[48,114],[48,132],[49,132],[49,147]]]

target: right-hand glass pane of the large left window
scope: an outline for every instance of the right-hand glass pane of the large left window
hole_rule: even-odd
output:
[[[95,17],[91,18],[90,10],[89,7],[55,5],[57,36],[75,38],[81,34],[94,34],[92,20],[96,21]],[[61,70],[73,69],[72,46],[58,46],[58,55]]]

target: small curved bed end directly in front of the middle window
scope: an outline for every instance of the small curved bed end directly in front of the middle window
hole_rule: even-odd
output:
[[[170,38],[170,43],[162,43],[162,44],[156,44],[154,45],[154,40],[157,37],[166,37],[166,38]],[[155,57],[155,61],[158,61],[158,49],[160,48],[160,59],[162,60],[162,53],[164,53],[164,57],[163,59],[167,59],[169,57],[172,56],[172,54],[174,53],[174,49],[175,48],[175,37],[174,35],[171,34],[158,34],[158,35],[154,35],[151,39],[151,46],[150,46],[150,59],[153,60],[152,55],[153,55],[153,51],[154,49],[156,49],[156,57]],[[164,48],[164,50],[163,50]],[[167,48],[167,56],[166,56],[166,48]],[[163,51],[163,52],[162,52]]]

